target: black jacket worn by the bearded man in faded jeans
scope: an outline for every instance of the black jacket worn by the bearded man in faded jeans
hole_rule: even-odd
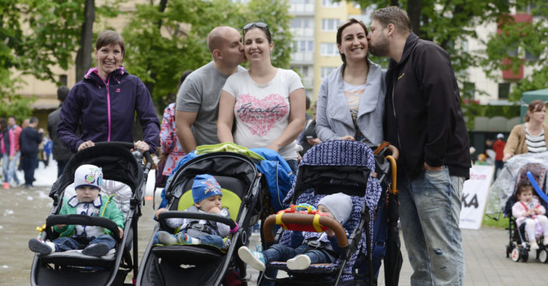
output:
[[[386,76],[385,139],[400,149],[398,177],[416,178],[424,163],[470,178],[470,143],[447,52],[413,33]]]

